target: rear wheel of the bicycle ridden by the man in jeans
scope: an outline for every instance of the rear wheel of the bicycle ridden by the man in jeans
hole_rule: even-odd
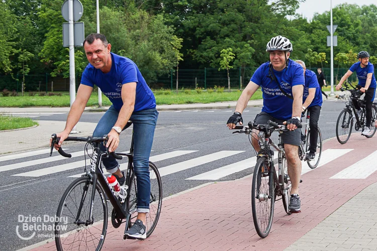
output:
[[[151,235],[157,225],[160,217],[162,206],[162,182],[160,173],[154,163],[149,162],[149,177],[150,177],[150,200],[149,213],[147,213],[147,220],[143,222],[146,227],[147,237]],[[128,196],[128,206],[131,213],[130,223],[134,223],[137,217],[137,186],[136,176],[133,172],[130,179],[130,188]],[[130,225],[131,226],[131,225]],[[129,226],[129,227],[130,227]]]

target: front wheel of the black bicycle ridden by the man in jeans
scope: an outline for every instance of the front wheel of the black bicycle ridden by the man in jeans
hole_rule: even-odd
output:
[[[96,189],[94,200],[90,200]],[[65,190],[56,212],[56,249],[101,250],[108,226],[108,206],[104,190],[87,176],[73,181]],[[92,214],[89,218],[89,209]]]

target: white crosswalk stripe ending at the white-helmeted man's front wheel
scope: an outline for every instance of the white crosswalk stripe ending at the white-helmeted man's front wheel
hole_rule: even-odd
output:
[[[254,167],[255,164],[256,164],[256,156],[243,160],[243,161],[236,162],[234,164],[217,168],[209,172],[205,172],[205,173],[187,178],[186,180],[218,180],[220,178],[226,177],[233,173],[237,173],[247,168]]]

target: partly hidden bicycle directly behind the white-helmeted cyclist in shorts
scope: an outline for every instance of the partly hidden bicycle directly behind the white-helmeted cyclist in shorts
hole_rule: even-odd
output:
[[[305,113],[302,113],[302,117],[305,117]],[[310,148],[310,113],[309,110],[306,113],[306,122],[301,122],[303,128],[305,126],[304,134],[301,133],[301,144],[299,146],[299,157],[300,160],[306,161],[308,166],[311,169],[318,167],[318,164],[321,160],[322,156],[322,133],[318,127],[318,137],[317,137],[317,148],[315,152],[315,158],[313,160],[309,160],[306,158],[309,148]]]

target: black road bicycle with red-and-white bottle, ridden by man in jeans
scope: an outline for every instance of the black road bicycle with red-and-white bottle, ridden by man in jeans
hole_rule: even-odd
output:
[[[129,121],[125,128],[132,124]],[[52,136],[51,153],[53,145],[59,142],[56,134]],[[60,250],[101,250],[106,237],[108,226],[108,205],[107,201],[113,205],[111,222],[115,228],[125,223],[125,232],[136,220],[137,212],[137,187],[136,176],[133,169],[134,136],[132,135],[131,148],[129,153],[109,153],[100,149],[100,145],[106,145],[107,135],[100,138],[68,137],[65,141],[86,142],[85,151],[90,156],[90,169],[86,169],[85,174],[73,181],[65,190],[56,213],[55,222],[55,242],[56,249]],[[88,151],[91,146],[92,150]],[[65,153],[61,148],[59,154],[70,158],[71,155]],[[121,160],[126,156],[128,165],[126,171],[126,181],[117,193],[110,186],[104,170],[101,168],[103,158],[112,155]],[[51,154],[50,154],[51,156]],[[86,161],[86,155],[85,155]],[[156,227],[161,212],[162,205],[162,183],[157,167],[149,162],[149,173],[151,181],[150,191],[150,212],[147,214],[146,226],[147,237]],[[124,239],[131,238],[124,235]]]

